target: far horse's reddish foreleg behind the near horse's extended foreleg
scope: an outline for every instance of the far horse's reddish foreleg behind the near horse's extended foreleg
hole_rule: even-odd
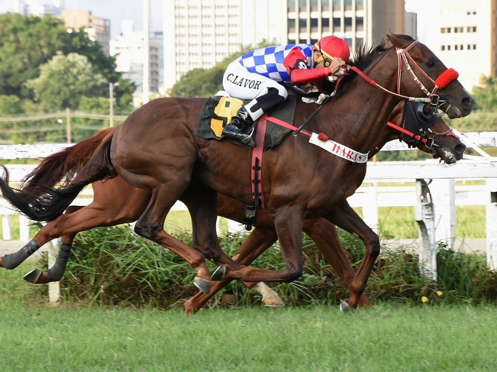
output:
[[[325,218],[306,220],[304,232],[314,241],[326,261],[335,270],[340,282],[348,288],[355,272],[340,242],[335,225]],[[365,308],[371,306],[364,293],[359,297],[358,305]]]

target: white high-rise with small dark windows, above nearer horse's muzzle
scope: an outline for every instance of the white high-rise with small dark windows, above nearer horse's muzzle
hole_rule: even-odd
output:
[[[497,1],[438,0],[430,1],[429,9],[423,5],[413,4],[419,41],[459,72],[468,91],[479,85],[482,75],[497,75]]]

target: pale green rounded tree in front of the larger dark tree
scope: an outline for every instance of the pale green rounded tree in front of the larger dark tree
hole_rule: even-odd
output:
[[[76,53],[55,56],[40,66],[40,76],[26,81],[46,111],[78,108],[81,98],[98,96],[106,80],[93,71],[88,59]]]

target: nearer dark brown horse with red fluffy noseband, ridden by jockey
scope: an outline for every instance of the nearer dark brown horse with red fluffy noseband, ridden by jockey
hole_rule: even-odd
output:
[[[356,160],[365,158],[365,151],[373,146],[398,96],[422,97],[425,93],[449,118],[468,115],[474,105],[474,99],[455,80],[454,72],[447,70],[429,49],[408,36],[389,36],[389,40],[394,48],[385,48],[382,43],[369,53],[359,53],[355,68],[352,67],[371,84],[349,73],[340,82],[333,99],[308,124],[309,130],[326,133],[337,142],[335,146]],[[402,74],[403,63],[409,75]],[[416,72],[420,76],[414,76]],[[430,87],[431,93],[425,86]],[[395,90],[399,93],[393,93]],[[252,192],[247,149],[228,141],[209,141],[194,135],[203,103],[201,99],[177,98],[151,101],[117,127],[71,180],[70,186],[58,189],[46,186],[44,192],[19,198],[2,180],[2,192],[31,219],[51,220],[64,211],[84,186],[105,177],[118,174],[133,186],[150,189],[150,202],[138,219],[135,231],[182,256],[197,271],[195,284],[208,293],[210,275],[205,257],[219,261],[222,255],[219,244],[208,240],[211,236],[208,231],[215,228],[215,194],[206,191],[205,198],[197,193],[192,199],[198,217],[193,221],[194,226],[207,244],[201,248],[204,254],[166,234],[166,214],[183,195],[192,177],[213,192],[246,204],[252,202]],[[311,114],[312,108],[299,103],[294,123],[302,123]],[[359,231],[366,246],[365,257],[348,286],[350,296],[342,303],[344,310],[355,309],[380,247],[378,236],[346,202],[362,183],[366,167],[365,163],[352,162],[348,157],[347,160],[328,154],[310,146],[301,137],[290,137],[277,148],[266,151],[262,190],[286,269],[242,267],[229,261],[225,277],[253,282],[298,278],[302,273],[303,221],[325,217],[346,231]]]

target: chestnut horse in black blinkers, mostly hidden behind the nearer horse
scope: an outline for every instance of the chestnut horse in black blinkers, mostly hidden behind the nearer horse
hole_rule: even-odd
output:
[[[419,103],[418,106],[423,106]],[[416,106],[417,107],[417,106]],[[399,103],[390,119],[393,123],[401,123],[404,111],[404,103]],[[409,114],[409,112],[407,113]],[[406,119],[406,118],[405,118]],[[415,121],[413,118],[413,121]],[[452,131],[442,119],[438,119],[434,124],[426,130],[421,129],[425,123],[419,123],[421,135],[419,139],[412,138],[412,146],[418,147],[424,152],[434,154],[434,157],[439,157],[447,164],[455,163],[462,158],[465,150],[465,145],[452,134]],[[50,179],[34,179],[31,175],[27,175],[25,180],[29,180],[30,184],[44,182],[54,184],[57,178],[63,177],[70,167],[73,167],[75,172],[87,161],[91,153],[109,132],[115,128],[108,128],[97,133],[95,136],[85,139],[72,147],[64,149],[59,153],[53,154],[42,161],[37,170],[33,173],[50,177]],[[400,129],[400,128],[399,128]],[[387,125],[381,133],[377,142],[369,151],[369,157],[374,156],[386,142],[402,138],[396,127]],[[410,141],[411,143],[411,141]],[[46,164],[59,164],[59,158],[64,158],[65,167],[40,172],[41,167]],[[62,237],[62,244],[57,255],[56,262],[47,273],[35,269],[24,276],[24,279],[34,284],[45,284],[53,281],[61,280],[69,253],[72,247],[73,240],[77,233],[83,230],[88,230],[97,226],[113,226],[122,223],[136,221],[147,206],[150,198],[150,192],[146,189],[133,187],[116,177],[106,182],[97,181],[92,184],[93,187],[93,202],[87,206],[70,206],[66,210],[66,214],[61,215],[52,222],[42,227],[33,238],[38,246],[43,246],[49,241]],[[224,195],[218,194],[218,215],[229,218],[231,220],[242,221],[244,213],[244,205],[234,199],[230,199]],[[340,240],[336,233],[333,224],[324,218],[305,220],[303,225],[304,232],[316,242],[316,246],[321,250],[325,259],[333,267],[337,273],[341,283],[347,286],[354,275],[352,266],[350,265],[346,253],[341,246]],[[241,264],[248,265],[265,249],[269,248],[277,240],[273,222],[270,216],[265,213],[265,210],[257,212],[255,221],[255,230],[248,240],[235,253],[238,255],[237,261]],[[23,257],[18,253],[13,253],[17,258]],[[19,259],[10,259],[7,255],[5,261],[8,262],[9,269],[16,267],[22,261]],[[0,257],[0,267],[2,264]],[[186,312],[195,312],[199,310],[205,302],[212,297],[216,292],[223,288],[227,282],[215,285],[211,289],[209,295],[199,292],[197,296],[186,302]],[[268,288],[265,284],[254,282],[244,283],[248,288],[254,288],[262,295],[262,302],[267,306],[282,306],[283,302],[278,295]],[[359,306],[369,306],[369,301],[363,294],[359,300]]]

